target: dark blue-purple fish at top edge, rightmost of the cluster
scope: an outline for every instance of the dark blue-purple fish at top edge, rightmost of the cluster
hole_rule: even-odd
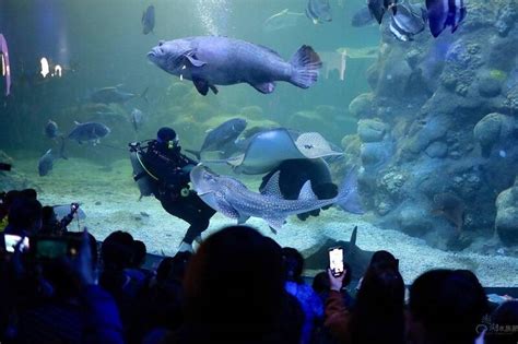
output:
[[[438,37],[447,26],[451,26],[451,33],[455,33],[467,14],[463,0],[426,0],[426,9],[434,37]]]

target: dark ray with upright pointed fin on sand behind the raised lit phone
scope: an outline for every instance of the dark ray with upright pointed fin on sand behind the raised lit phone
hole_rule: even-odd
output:
[[[323,244],[317,246],[316,251],[315,247],[303,251],[302,253],[305,257],[306,252],[311,252],[304,260],[305,268],[311,270],[326,270],[329,266],[329,249],[341,247],[343,248],[343,259],[351,266],[352,280],[360,280],[365,270],[367,270],[374,252],[364,251],[356,246],[356,233],[357,226],[354,227],[349,241],[337,241],[328,238]]]

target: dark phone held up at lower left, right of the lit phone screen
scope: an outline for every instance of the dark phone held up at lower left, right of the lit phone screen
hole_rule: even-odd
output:
[[[76,238],[62,237],[34,237],[31,251],[38,260],[50,260],[63,257],[78,256],[81,241]]]

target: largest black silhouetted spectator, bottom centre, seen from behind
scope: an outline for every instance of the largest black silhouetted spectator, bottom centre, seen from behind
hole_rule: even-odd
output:
[[[203,241],[188,266],[186,322],[170,343],[299,343],[281,248],[246,226]],[[298,309],[298,312],[301,310]]]

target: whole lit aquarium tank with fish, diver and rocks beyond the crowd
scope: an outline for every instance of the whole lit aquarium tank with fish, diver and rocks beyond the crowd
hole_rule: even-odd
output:
[[[517,0],[1,0],[0,34],[0,191],[69,230],[518,287]]]

